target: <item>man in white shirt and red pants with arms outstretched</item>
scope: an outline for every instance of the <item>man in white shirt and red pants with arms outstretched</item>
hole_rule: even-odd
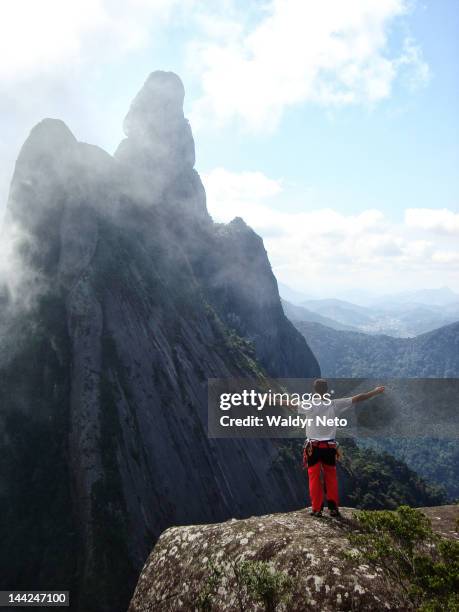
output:
[[[314,381],[314,393],[316,397],[320,396],[319,401],[312,402],[310,408],[297,407],[298,413],[307,416],[308,423],[310,423],[306,426],[303,466],[308,470],[309,495],[312,506],[311,516],[322,516],[324,492],[321,474],[323,472],[330,516],[339,517],[338,478],[336,474],[336,458],[339,451],[336,442],[336,418],[351,408],[353,404],[384,393],[384,387],[376,387],[372,391],[359,393],[353,397],[331,399],[327,381],[318,378]],[[293,407],[291,402],[282,403]],[[320,421],[323,421],[325,417],[327,424],[318,424],[317,417],[320,417]]]

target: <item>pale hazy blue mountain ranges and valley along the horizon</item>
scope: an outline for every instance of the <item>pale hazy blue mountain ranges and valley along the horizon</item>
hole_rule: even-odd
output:
[[[429,296],[428,304],[414,301],[418,298],[427,300]],[[434,294],[429,291],[400,294],[394,298],[381,298],[372,306],[360,306],[338,299],[304,300],[300,305],[284,301],[283,306],[292,321],[310,321],[338,330],[412,338],[459,320],[459,298],[447,302],[448,296],[454,297],[455,294],[449,290]]]

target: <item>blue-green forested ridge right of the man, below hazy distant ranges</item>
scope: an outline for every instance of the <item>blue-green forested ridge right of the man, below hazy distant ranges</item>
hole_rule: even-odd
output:
[[[285,306],[284,306],[285,308]],[[317,322],[295,321],[330,378],[458,378],[459,322],[417,336],[393,338],[337,330]],[[398,386],[403,396],[404,385]],[[429,400],[430,401],[430,400]],[[426,432],[426,436],[429,432]],[[455,439],[368,438],[359,446],[386,451],[433,485],[459,497],[459,449]],[[435,449],[427,454],[427,449]]]

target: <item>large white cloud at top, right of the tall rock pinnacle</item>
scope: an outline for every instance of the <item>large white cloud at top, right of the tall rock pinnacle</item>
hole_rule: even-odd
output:
[[[214,116],[264,129],[295,104],[372,104],[390,96],[399,75],[410,87],[428,80],[412,38],[398,54],[389,50],[390,28],[408,12],[405,0],[271,0],[263,8],[255,24],[191,47],[190,64],[202,72],[197,125]]]

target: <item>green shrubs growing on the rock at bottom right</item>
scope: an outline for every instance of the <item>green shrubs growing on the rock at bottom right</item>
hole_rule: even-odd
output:
[[[459,542],[432,531],[419,510],[359,512],[349,535],[359,552],[350,553],[383,572],[394,604],[406,610],[459,610]]]

